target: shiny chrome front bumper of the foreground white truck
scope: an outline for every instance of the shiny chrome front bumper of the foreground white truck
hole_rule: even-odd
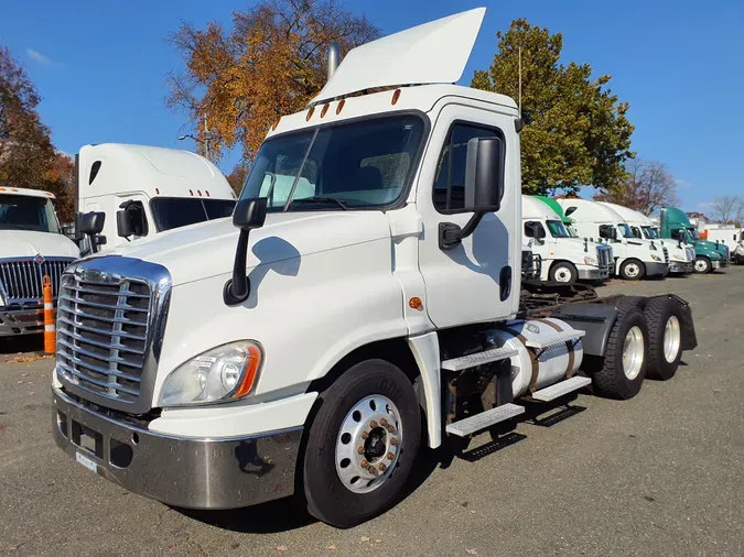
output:
[[[60,389],[52,395],[57,446],[129,491],[188,509],[236,509],[294,492],[302,427],[245,438],[173,437],[94,411]]]

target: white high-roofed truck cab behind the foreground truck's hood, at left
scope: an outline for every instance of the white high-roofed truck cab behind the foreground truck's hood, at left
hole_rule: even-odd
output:
[[[106,216],[97,239],[104,250],[229,217],[236,203],[222,172],[190,151],[123,143],[85,145],[76,167],[78,211]],[[89,251],[87,238],[83,251]]]

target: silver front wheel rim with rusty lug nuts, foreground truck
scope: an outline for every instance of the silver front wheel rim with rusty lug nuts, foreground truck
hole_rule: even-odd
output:
[[[403,440],[400,412],[387,396],[365,396],[342,422],[336,437],[336,472],[354,493],[369,493],[392,474]]]

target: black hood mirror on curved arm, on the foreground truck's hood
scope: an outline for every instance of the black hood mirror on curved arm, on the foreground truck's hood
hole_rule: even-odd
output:
[[[259,197],[241,199],[233,212],[233,226],[240,229],[238,247],[235,251],[233,278],[225,283],[223,299],[228,306],[242,304],[250,295],[250,281],[246,275],[246,259],[248,256],[248,237],[251,230],[261,228],[266,221],[268,199]]]

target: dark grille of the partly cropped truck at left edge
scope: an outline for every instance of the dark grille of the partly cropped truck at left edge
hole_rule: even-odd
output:
[[[0,291],[6,294],[8,304],[39,303],[44,298],[43,277],[48,275],[56,299],[62,273],[73,261],[72,258],[0,260]]]

